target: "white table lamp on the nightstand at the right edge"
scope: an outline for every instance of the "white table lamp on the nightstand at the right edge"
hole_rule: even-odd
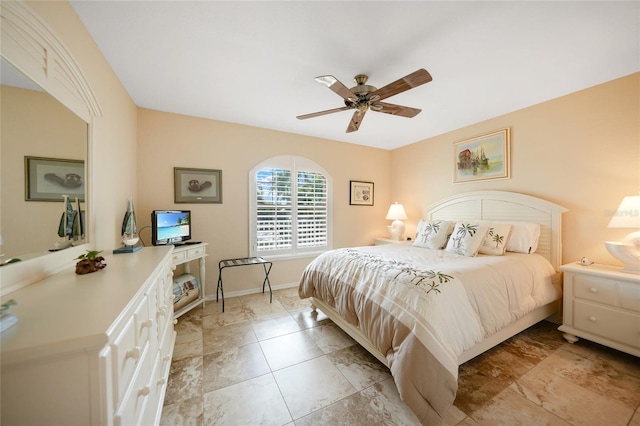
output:
[[[619,242],[604,243],[609,253],[624,264],[622,272],[640,274],[640,195],[624,197],[609,222],[609,228],[634,229]]]

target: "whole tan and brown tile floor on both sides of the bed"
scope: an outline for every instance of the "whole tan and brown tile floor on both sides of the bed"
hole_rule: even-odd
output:
[[[386,367],[297,289],[183,315],[163,425],[414,425]],[[640,358],[542,322],[460,367],[446,425],[640,426]]]

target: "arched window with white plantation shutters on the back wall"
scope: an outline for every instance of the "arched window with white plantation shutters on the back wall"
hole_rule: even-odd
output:
[[[251,256],[317,254],[332,245],[332,183],[315,162],[278,156],[249,172]]]

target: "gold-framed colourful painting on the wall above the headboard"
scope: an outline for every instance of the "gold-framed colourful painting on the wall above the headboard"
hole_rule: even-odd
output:
[[[453,144],[453,181],[472,182],[511,176],[509,128]]]

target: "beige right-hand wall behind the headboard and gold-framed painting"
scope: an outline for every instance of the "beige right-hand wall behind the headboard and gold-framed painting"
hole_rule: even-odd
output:
[[[587,256],[618,264],[604,241],[631,230],[609,229],[611,211],[640,190],[640,73],[392,152],[392,194],[405,204],[407,232],[422,208],[454,193],[517,191],[569,209],[563,261]],[[511,128],[511,179],[454,184],[454,142]]]

